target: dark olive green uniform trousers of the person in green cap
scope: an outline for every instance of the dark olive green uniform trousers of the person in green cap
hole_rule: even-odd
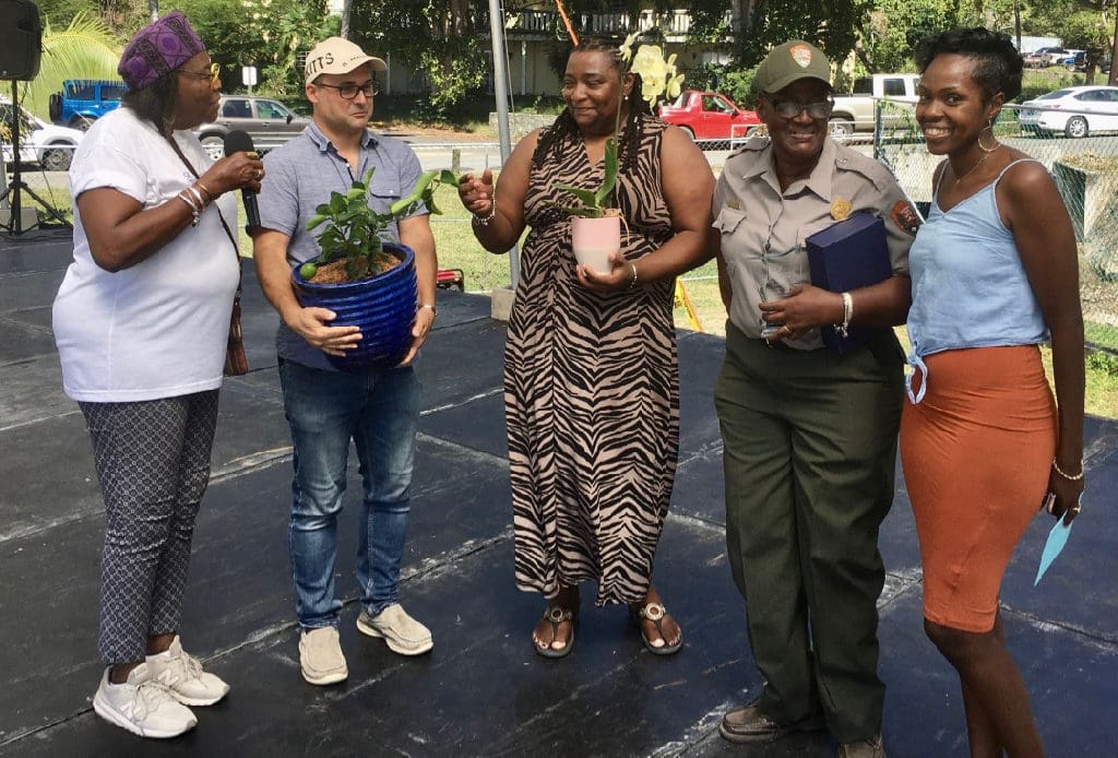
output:
[[[881,731],[878,530],[893,501],[903,354],[891,331],[845,356],[767,347],[727,325],[714,388],[726,541],[783,721],[822,708],[841,742]]]

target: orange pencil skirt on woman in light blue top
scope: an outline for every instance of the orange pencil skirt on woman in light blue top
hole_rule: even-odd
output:
[[[1048,490],[1057,417],[1036,345],[925,358],[900,452],[923,563],[923,615],[989,632],[1010,557]]]

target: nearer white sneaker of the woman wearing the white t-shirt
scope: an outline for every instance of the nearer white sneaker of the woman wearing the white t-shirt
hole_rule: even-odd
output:
[[[93,697],[93,710],[110,723],[140,737],[164,739],[190,731],[198,719],[151,676],[146,663],[129,673],[123,684],[108,682],[108,669]]]

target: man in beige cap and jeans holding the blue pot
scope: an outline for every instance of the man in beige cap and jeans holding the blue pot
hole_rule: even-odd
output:
[[[300,664],[303,679],[312,684],[332,684],[349,675],[338,634],[342,604],[334,593],[334,565],[351,439],[363,490],[357,627],[383,638],[401,655],[419,655],[434,646],[427,627],[397,599],[419,421],[419,383],[411,360],[435,321],[437,264],[429,211],[420,206],[388,229],[394,241],[415,252],[418,278],[411,350],[400,366],[370,375],[334,369],[326,356],[354,347],[361,340],[358,328],[331,326],[334,314],[302,307],[291,284],[292,267],[320,253],[306,222],[332,191],[344,193],[375,169],[370,202],[382,214],[410,192],[421,173],[407,143],[368,129],[377,94],[373,72],[386,69],[383,60],[341,37],[319,42],[306,56],[305,92],[313,121],[265,157],[260,229],[253,240],[260,286],[281,316],[276,349],[295,468],[291,562],[302,629]]]

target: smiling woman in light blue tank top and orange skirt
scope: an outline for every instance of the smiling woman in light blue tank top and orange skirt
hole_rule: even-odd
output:
[[[1021,93],[1005,35],[917,49],[916,117],[946,155],[910,252],[912,342],[901,462],[923,565],[925,629],[959,674],[970,752],[1042,756],[1005,646],[1002,576],[1042,503],[1069,522],[1083,490],[1083,321],[1076,238],[1045,168],[993,124]],[[1055,400],[1041,364],[1051,340]]]

